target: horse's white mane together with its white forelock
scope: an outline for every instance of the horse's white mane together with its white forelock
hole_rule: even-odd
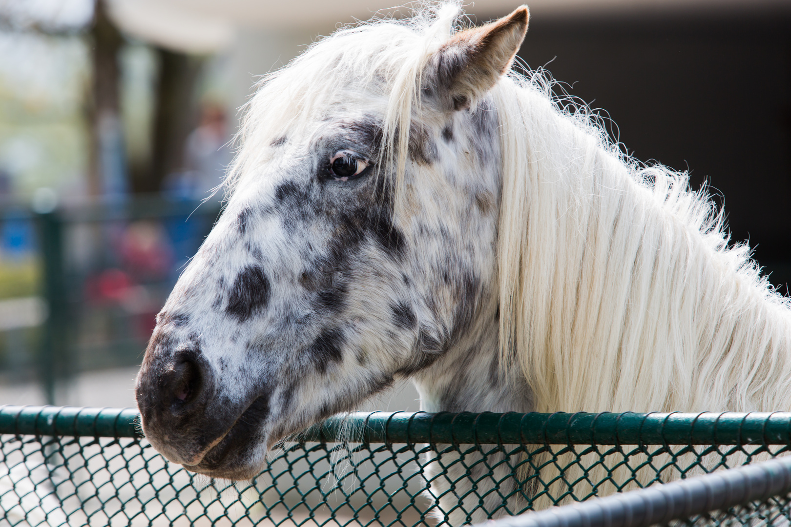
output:
[[[343,28],[265,77],[230,171],[354,87],[386,94],[384,156],[397,185],[427,59],[459,27],[458,2],[407,21]],[[340,72],[340,73],[339,73]],[[617,148],[536,72],[491,92],[501,124],[501,352],[536,410],[791,409],[791,311],[687,174]],[[333,104],[343,104],[334,102]]]

